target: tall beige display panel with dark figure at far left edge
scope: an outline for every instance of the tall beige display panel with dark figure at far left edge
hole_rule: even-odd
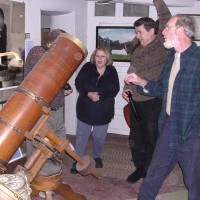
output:
[[[23,64],[17,66],[9,63],[16,55],[24,60],[24,43],[25,4],[0,0],[0,88],[22,82]]]

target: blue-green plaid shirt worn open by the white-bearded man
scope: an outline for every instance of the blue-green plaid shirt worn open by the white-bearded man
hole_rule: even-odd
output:
[[[167,118],[166,102],[168,82],[175,50],[170,51],[168,61],[158,81],[149,81],[145,86],[152,96],[163,99],[159,118],[159,130]],[[183,144],[192,134],[200,134],[200,48],[196,43],[180,57],[180,70],[175,78],[172,91],[170,112],[169,147],[176,148]],[[142,88],[138,88],[142,91]]]

